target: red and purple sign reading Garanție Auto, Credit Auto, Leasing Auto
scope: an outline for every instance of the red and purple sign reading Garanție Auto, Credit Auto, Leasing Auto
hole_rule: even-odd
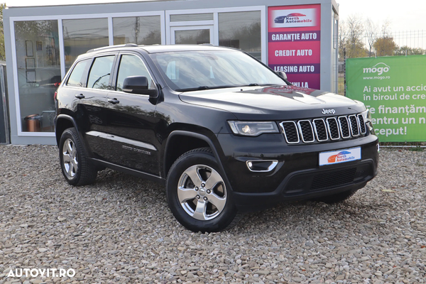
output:
[[[297,87],[320,89],[321,5],[268,7],[268,65]]]

